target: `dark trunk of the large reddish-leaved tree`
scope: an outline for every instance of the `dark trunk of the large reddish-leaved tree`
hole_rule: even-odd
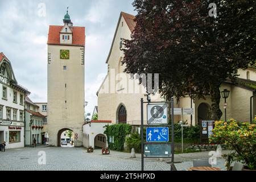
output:
[[[222,111],[220,110],[220,85],[210,85],[210,99],[212,100],[212,108],[210,109],[210,119],[214,121],[220,120]]]

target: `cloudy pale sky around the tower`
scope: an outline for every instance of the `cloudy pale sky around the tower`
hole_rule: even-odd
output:
[[[63,25],[69,7],[74,26],[86,28],[86,111],[97,105],[96,92],[107,73],[105,64],[121,11],[135,15],[133,0],[0,0],[0,52],[11,61],[19,84],[34,102],[47,101],[47,34]],[[44,9],[46,11],[44,11]]]

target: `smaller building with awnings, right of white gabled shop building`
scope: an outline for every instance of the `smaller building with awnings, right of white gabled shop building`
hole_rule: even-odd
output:
[[[32,146],[34,139],[36,139],[37,144],[43,144],[45,138],[43,128],[46,115],[39,113],[40,107],[32,102],[28,96],[25,98],[25,104],[25,146]]]

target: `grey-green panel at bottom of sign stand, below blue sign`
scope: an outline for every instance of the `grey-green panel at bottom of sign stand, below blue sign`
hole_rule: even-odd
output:
[[[144,155],[152,158],[170,158],[172,155],[171,143],[144,144]]]

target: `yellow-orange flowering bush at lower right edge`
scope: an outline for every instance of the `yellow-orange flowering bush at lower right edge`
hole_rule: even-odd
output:
[[[228,122],[216,121],[210,137],[210,142],[224,142],[232,153],[224,155],[226,167],[230,163],[240,162],[245,164],[245,170],[256,170],[256,121],[253,123],[239,123],[234,119]]]

